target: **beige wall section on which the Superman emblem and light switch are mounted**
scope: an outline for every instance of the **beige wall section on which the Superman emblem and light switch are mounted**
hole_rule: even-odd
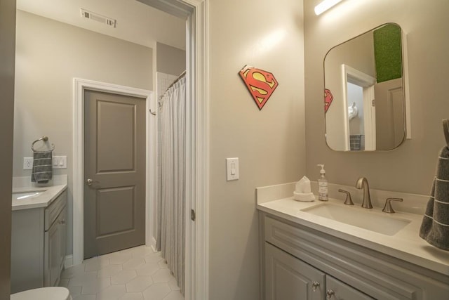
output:
[[[209,299],[258,300],[255,188],[305,171],[302,1],[210,0]],[[279,81],[260,111],[244,65]],[[240,179],[226,181],[225,158]]]

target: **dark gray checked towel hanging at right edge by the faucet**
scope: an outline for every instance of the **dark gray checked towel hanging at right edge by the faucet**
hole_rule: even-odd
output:
[[[421,223],[420,237],[429,244],[449,250],[449,149],[438,156],[436,176]]]

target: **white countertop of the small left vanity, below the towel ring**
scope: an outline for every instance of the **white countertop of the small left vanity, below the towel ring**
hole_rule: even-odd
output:
[[[40,207],[48,207],[64,190],[67,189],[67,175],[55,176],[53,180],[54,185],[48,186],[32,186],[31,183],[22,184],[22,182],[29,181],[29,178],[21,177],[13,179],[13,194],[14,193],[27,193],[27,192],[43,192],[36,197],[29,197],[21,200],[12,199],[12,210],[20,209],[35,209]],[[61,177],[61,178],[58,178]],[[18,180],[15,180],[18,179]]]

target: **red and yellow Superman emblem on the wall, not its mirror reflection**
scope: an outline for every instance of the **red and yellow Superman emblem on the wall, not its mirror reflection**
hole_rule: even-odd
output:
[[[251,96],[253,96],[255,104],[257,104],[259,110],[262,110],[262,107],[264,107],[278,86],[278,81],[276,81],[272,73],[250,67],[249,65],[243,67],[239,74]]]

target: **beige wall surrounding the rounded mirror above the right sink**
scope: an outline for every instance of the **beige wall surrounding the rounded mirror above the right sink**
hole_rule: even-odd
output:
[[[371,188],[428,194],[436,156],[445,144],[441,119],[449,117],[449,2],[346,0],[316,16],[313,9],[320,1],[304,1],[307,176],[316,180],[316,164],[323,163],[330,183],[354,185],[359,176],[366,176]],[[412,140],[389,152],[329,150],[324,139],[323,58],[333,46],[385,22],[398,23],[407,39]]]

